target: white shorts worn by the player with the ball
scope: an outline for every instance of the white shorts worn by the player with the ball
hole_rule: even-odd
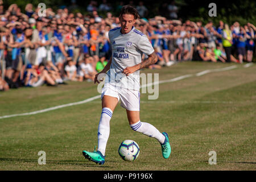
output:
[[[101,92],[101,100],[103,96],[112,96],[121,100],[121,106],[130,111],[139,111],[141,101],[139,90],[129,90],[118,86],[108,84],[104,86]]]

